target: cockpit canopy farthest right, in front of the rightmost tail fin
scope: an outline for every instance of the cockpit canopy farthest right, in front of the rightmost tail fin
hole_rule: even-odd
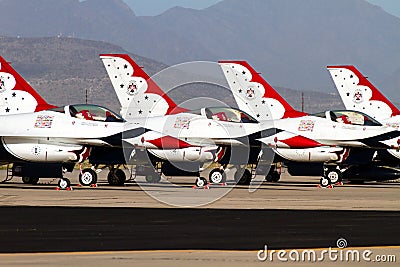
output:
[[[371,118],[367,114],[354,110],[325,111],[314,114],[313,116],[327,118],[335,122],[350,124],[350,125],[382,126],[381,123]]]

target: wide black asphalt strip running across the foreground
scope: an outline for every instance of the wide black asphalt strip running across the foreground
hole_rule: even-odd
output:
[[[1,207],[0,252],[400,245],[400,212]]]

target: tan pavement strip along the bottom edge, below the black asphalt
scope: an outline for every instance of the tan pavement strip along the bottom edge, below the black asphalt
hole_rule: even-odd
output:
[[[266,261],[260,261],[257,257],[258,251],[219,251],[219,250],[161,250],[161,251],[105,251],[105,252],[72,252],[72,253],[20,253],[20,254],[0,254],[0,266],[20,267],[20,266],[95,266],[95,267],[165,267],[165,266],[218,266],[218,267],[243,267],[243,266],[398,266],[400,257],[399,247],[365,247],[365,248],[348,248],[338,250],[337,254],[332,254],[331,258],[322,251],[328,248],[315,249],[316,260],[311,261],[308,258],[297,260],[289,258],[291,251],[283,260],[279,260],[276,254],[269,257]],[[348,252],[358,251],[360,258],[351,257]],[[299,255],[304,250],[296,250]],[[365,259],[362,254],[365,251],[371,251],[371,255]],[[339,252],[344,256],[339,257]],[[347,253],[347,254],[346,254]],[[293,254],[295,255],[295,254]],[[336,256],[337,255],[337,256]],[[357,254],[355,254],[357,255]],[[347,258],[346,258],[347,257]],[[285,259],[287,259],[285,261]],[[349,259],[346,261],[346,259]],[[384,259],[384,261],[382,260]]]

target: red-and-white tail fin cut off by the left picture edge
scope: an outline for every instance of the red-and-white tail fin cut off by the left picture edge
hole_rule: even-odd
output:
[[[0,115],[54,108],[0,56]]]

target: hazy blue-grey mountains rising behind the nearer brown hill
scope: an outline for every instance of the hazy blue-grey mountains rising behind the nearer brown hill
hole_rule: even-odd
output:
[[[122,0],[1,0],[0,10],[0,35],[106,41],[170,65],[245,59],[288,88],[334,92],[325,67],[353,64],[400,102],[400,19],[365,0],[224,0],[154,17]]]

